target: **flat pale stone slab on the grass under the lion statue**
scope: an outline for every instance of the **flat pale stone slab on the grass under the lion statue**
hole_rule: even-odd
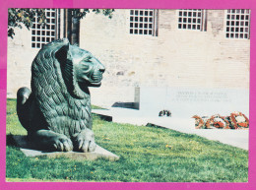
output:
[[[27,141],[26,136],[13,136],[16,144],[27,157],[47,157],[47,158],[72,158],[76,160],[95,160],[96,158],[106,158],[109,160],[118,160],[119,157],[110,153],[109,151],[96,146],[96,151],[91,153],[78,152],[42,152],[32,148],[32,145]]]

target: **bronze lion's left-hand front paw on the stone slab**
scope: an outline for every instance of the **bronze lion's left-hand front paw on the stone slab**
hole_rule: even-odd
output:
[[[52,148],[54,151],[69,152],[73,150],[72,141],[64,136],[54,137]]]

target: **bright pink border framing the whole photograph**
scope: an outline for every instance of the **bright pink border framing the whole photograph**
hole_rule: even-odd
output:
[[[42,3],[43,2],[43,3]],[[6,71],[7,71],[7,9],[21,8],[158,8],[158,9],[251,9],[251,79],[250,79],[250,134],[248,183],[57,183],[57,182],[5,182],[5,121],[6,121]],[[0,6],[0,188],[1,189],[256,189],[256,3],[254,0],[1,0]],[[253,149],[254,148],[254,149]]]

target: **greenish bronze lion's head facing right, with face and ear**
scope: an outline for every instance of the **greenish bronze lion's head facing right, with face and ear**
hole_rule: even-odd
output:
[[[80,90],[101,85],[105,68],[89,51],[66,43],[56,52],[55,57],[61,63],[62,75],[71,94],[80,97],[83,94]]]

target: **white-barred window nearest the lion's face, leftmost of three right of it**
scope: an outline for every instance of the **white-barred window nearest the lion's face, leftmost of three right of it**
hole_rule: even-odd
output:
[[[133,9],[130,10],[130,33],[144,35],[158,35],[157,10]]]

